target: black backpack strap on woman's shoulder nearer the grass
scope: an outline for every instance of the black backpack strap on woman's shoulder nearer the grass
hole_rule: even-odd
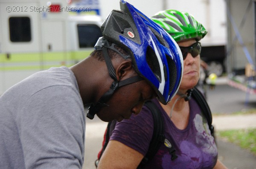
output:
[[[196,87],[194,88],[194,90],[192,90],[192,97],[198,103],[199,107],[202,110],[202,113],[206,117],[209,129],[212,136],[214,137],[214,127],[212,126],[212,112],[209,108],[209,105],[207,104],[207,101],[205,100],[205,97]]]

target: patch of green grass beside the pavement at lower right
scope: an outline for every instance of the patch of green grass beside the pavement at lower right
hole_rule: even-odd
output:
[[[256,129],[218,131],[216,136],[248,149],[256,155]]]

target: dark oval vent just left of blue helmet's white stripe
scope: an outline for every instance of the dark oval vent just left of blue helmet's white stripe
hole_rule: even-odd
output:
[[[149,68],[152,70],[157,79],[161,82],[161,70],[159,61],[157,60],[155,51],[151,47],[147,48],[146,61],[148,63]]]

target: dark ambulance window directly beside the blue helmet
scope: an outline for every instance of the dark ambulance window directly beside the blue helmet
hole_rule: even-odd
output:
[[[97,25],[78,24],[79,48],[93,48],[102,32]]]

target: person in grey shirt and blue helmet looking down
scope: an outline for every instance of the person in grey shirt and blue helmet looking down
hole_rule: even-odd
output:
[[[175,95],[183,70],[176,42],[134,6],[120,6],[89,57],[35,73],[0,96],[0,168],[81,169],[84,106],[90,119],[122,121],[148,99],[167,104]]]

